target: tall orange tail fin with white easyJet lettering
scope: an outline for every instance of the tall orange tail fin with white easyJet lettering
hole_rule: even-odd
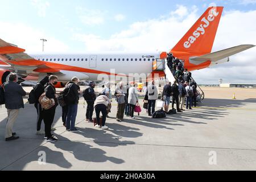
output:
[[[212,51],[224,7],[209,7],[179,43],[171,50],[174,56],[204,55]]]

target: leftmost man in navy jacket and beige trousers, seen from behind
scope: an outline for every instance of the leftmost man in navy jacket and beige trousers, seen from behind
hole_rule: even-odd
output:
[[[20,108],[24,108],[23,96],[26,96],[26,92],[22,86],[17,84],[18,76],[16,73],[11,73],[9,81],[3,84],[5,107],[8,113],[8,119],[6,124],[5,140],[16,140],[19,137],[15,137],[16,133],[13,132],[14,123],[18,117]]]

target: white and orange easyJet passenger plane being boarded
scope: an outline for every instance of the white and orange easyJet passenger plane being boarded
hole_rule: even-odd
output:
[[[249,44],[240,45],[211,53],[223,9],[224,7],[209,7],[171,49],[170,53],[183,60],[188,71],[228,62],[229,56],[254,47]],[[32,76],[39,79],[46,73],[54,73],[61,81],[56,87],[63,87],[64,82],[71,80],[73,76],[80,80],[98,80],[100,74],[120,77],[129,77],[131,73],[145,73],[147,77],[158,74],[173,80],[168,67],[158,68],[159,62],[166,65],[167,52],[31,56],[24,52],[24,49],[0,39],[0,84],[6,81],[10,72],[16,72],[20,78]],[[112,73],[112,69],[118,73]]]

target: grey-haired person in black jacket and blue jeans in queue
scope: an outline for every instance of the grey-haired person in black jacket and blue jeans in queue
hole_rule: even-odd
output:
[[[66,104],[68,105],[66,130],[71,132],[79,131],[75,127],[77,109],[79,104],[79,95],[81,94],[80,86],[77,85],[78,83],[79,78],[73,77],[71,82],[68,82],[67,84],[66,89],[68,91],[67,94],[64,96],[64,100],[67,101]]]

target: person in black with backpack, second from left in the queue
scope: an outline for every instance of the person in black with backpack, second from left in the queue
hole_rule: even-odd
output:
[[[35,93],[35,108],[38,113],[38,118],[36,119],[36,135],[45,135],[44,131],[41,131],[41,125],[43,121],[42,106],[39,103],[39,97],[44,93],[44,85],[49,82],[49,76],[44,77],[34,88]]]

